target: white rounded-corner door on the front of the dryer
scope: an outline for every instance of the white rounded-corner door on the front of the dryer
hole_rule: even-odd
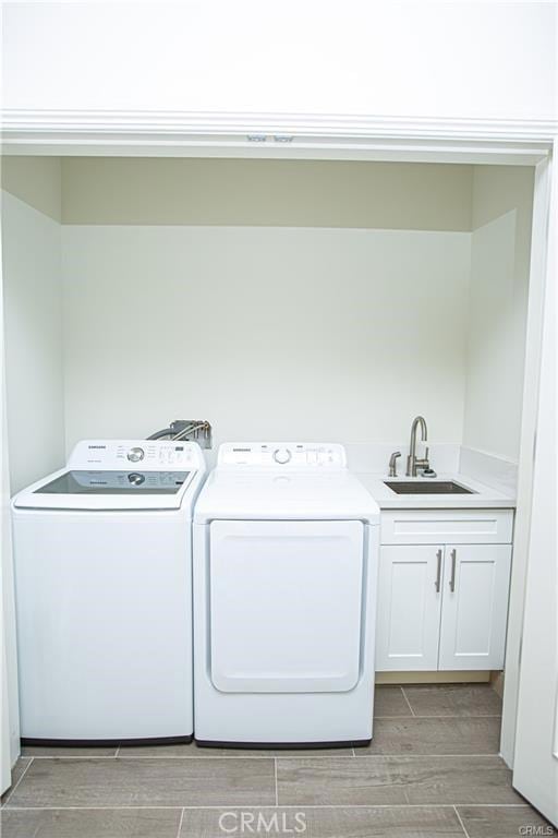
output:
[[[352,690],[360,674],[364,573],[361,522],[213,522],[216,689]]]

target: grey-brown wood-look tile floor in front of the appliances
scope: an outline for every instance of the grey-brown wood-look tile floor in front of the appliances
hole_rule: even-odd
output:
[[[1,835],[553,835],[511,787],[498,756],[500,713],[485,684],[379,686],[373,742],[356,751],[24,747]]]

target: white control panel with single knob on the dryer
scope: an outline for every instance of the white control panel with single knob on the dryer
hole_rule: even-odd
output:
[[[218,466],[254,468],[347,468],[344,447],[320,442],[227,442],[219,446]]]

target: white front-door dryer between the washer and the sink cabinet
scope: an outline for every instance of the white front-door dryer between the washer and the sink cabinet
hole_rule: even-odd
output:
[[[379,510],[343,447],[221,445],[193,532],[196,741],[368,743]]]

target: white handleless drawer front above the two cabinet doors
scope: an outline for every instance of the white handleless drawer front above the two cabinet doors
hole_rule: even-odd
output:
[[[512,510],[386,510],[383,544],[509,544]]]

